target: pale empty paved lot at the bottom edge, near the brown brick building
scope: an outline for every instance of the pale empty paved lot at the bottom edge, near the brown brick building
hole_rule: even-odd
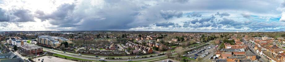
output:
[[[36,60],[36,62],[41,62],[41,60],[38,59],[44,59],[44,62],[77,62],[77,61],[73,61],[73,60],[66,60],[66,59],[62,59],[62,58],[58,58],[58,57],[54,57],[54,56],[42,56],[39,58],[34,58],[32,59],[33,61]]]

